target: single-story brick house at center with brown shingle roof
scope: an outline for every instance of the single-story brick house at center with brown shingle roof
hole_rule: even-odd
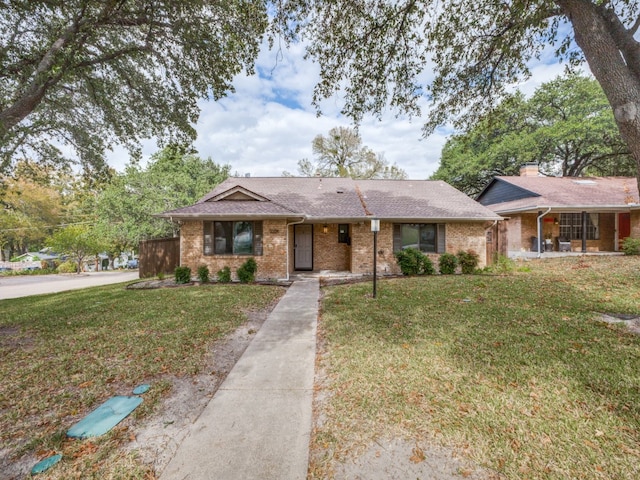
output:
[[[195,205],[160,216],[179,221],[180,264],[232,272],[252,256],[258,278],[297,271],[373,273],[371,219],[379,219],[377,270],[398,273],[394,252],[434,259],[473,250],[486,264],[491,210],[441,181],[229,178]]]

